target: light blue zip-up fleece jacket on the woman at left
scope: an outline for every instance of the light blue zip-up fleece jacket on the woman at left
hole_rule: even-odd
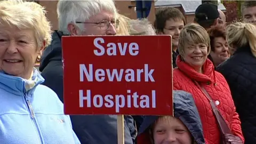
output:
[[[0,72],[1,144],[77,144],[63,103],[34,69],[33,81]]]

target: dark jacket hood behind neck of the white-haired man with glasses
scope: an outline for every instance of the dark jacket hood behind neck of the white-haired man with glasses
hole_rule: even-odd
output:
[[[50,61],[62,60],[62,52],[61,52],[62,36],[63,36],[63,33],[61,31],[55,30],[53,32],[52,42],[49,46],[46,47],[41,57],[39,71],[43,71]]]

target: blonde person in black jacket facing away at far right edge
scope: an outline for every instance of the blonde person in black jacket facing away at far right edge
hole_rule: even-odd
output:
[[[237,22],[227,26],[228,45],[234,55],[217,70],[226,78],[242,122],[245,143],[256,141],[256,27]]]

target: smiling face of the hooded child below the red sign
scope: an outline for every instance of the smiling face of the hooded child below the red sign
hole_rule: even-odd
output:
[[[159,118],[153,130],[154,144],[191,144],[187,127],[175,117]]]

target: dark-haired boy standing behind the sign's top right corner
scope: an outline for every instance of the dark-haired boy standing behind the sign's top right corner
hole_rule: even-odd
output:
[[[174,7],[165,7],[157,10],[154,27],[157,35],[172,36],[172,66],[176,67],[176,58],[179,55],[178,43],[180,31],[186,25],[186,20],[182,12]]]

